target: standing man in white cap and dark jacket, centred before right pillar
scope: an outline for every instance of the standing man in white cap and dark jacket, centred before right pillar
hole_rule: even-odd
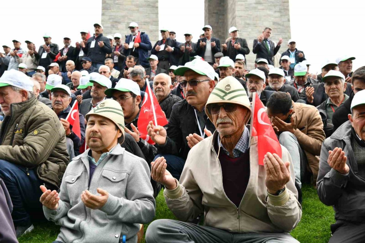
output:
[[[245,57],[250,53],[250,49],[246,39],[238,38],[238,30],[236,27],[229,28],[228,32],[231,38],[222,45],[222,52],[224,56],[228,56],[235,62],[237,54],[242,54]]]

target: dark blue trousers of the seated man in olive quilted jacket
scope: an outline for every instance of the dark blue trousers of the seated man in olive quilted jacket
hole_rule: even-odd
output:
[[[11,216],[15,226],[30,224],[30,213],[44,218],[42,204],[39,202],[42,195],[39,186],[44,182],[38,178],[35,170],[27,171],[24,166],[0,160],[0,178],[10,194],[13,204]]]

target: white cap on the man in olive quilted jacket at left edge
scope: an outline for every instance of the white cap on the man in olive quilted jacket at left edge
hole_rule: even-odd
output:
[[[0,87],[8,85],[33,92],[33,81],[26,74],[15,69],[5,71],[0,77]]]

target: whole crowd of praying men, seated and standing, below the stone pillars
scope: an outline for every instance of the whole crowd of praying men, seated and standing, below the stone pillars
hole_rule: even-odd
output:
[[[50,34],[38,51],[31,40],[27,51],[3,45],[0,241],[45,218],[62,226],[54,243],[135,243],[146,223],[147,243],[298,242],[289,232],[303,183],[334,207],[331,243],[363,241],[365,66],[353,72],[355,57],[343,56],[311,74],[296,41],[280,54],[269,27],[253,41],[252,70],[236,27],[223,44],[210,25],[197,43],[161,29],[154,46],[137,23],[129,30],[104,36],[96,23],[62,49]],[[151,119],[142,139],[150,89],[168,124]],[[264,166],[250,134],[254,95],[282,150]],[[153,221],[162,189],[177,220]]]

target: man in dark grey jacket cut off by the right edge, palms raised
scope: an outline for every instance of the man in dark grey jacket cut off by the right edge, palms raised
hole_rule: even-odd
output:
[[[322,144],[317,191],[335,211],[330,243],[363,242],[365,237],[364,97],[364,90],[356,93],[349,121]]]

